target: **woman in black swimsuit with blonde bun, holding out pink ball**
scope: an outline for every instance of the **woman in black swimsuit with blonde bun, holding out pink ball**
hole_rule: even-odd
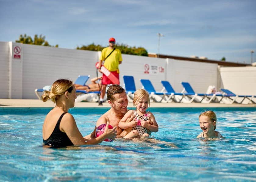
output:
[[[66,79],[56,80],[51,91],[44,91],[42,100],[51,99],[56,106],[47,114],[43,124],[43,142],[52,147],[66,147],[70,145],[84,145],[101,143],[107,138],[114,140],[116,127],[94,137],[94,132],[85,137],[82,136],[76,126],[74,117],[68,113],[69,108],[74,107],[76,89],[72,81]],[[107,123],[108,125],[108,123]],[[108,127],[106,127],[108,128]]]

